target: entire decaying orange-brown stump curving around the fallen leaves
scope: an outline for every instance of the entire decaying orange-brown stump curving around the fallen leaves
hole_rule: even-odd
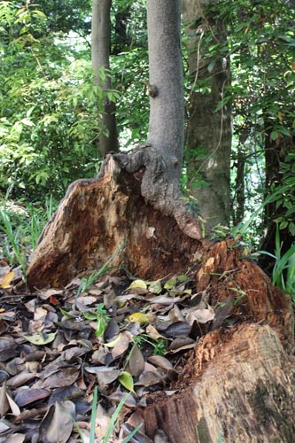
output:
[[[112,272],[127,268],[144,279],[195,269],[196,292],[214,307],[215,319],[169,388],[175,393],[148,399],[148,435],[159,428],[170,443],[294,442],[291,299],[241,256],[234,239],[190,237],[190,216],[162,214],[146,202],[142,175],[109,156],[97,179],[73,183],[43,230],[28,286],[64,286],[113,254]],[[229,314],[234,321],[225,327]]]

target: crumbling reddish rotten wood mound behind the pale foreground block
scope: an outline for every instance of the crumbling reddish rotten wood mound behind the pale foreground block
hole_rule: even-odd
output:
[[[268,276],[243,257],[235,240],[213,245],[196,275],[197,291],[206,291],[215,307],[231,294],[230,315],[255,323],[268,323],[284,345],[293,346],[294,315],[291,298],[271,284]]]

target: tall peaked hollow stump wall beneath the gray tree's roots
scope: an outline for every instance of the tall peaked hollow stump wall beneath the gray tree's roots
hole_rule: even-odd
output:
[[[72,183],[39,240],[28,286],[63,286],[99,269],[125,243],[112,266],[143,278],[179,273],[194,263],[201,244],[183,232],[194,232],[190,217],[180,217],[178,209],[162,214],[146,203],[142,175],[121,169],[110,155],[97,180]]]

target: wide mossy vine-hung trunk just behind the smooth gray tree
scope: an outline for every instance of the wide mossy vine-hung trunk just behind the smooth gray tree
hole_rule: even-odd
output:
[[[212,35],[212,44],[226,44],[223,24],[206,17],[207,0],[183,0],[182,12],[185,32],[189,35],[189,69],[192,90],[190,93],[189,121],[186,132],[188,170],[191,179],[190,193],[198,199],[203,217],[211,226],[229,226],[230,217],[230,102],[216,111],[225,97],[230,82],[229,58],[204,55],[204,34]],[[201,25],[192,29],[196,21]],[[191,37],[197,32],[198,36]],[[201,82],[207,92],[196,91]],[[200,155],[200,153],[202,155]],[[199,158],[199,159],[198,159]],[[206,186],[194,187],[194,179],[201,175]]]

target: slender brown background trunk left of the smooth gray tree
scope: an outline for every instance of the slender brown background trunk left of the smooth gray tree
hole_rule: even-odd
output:
[[[94,82],[105,93],[112,89],[111,77],[109,75],[111,6],[112,0],[93,0],[92,5],[91,59],[95,72]],[[104,76],[101,75],[103,69],[105,69]],[[99,152],[102,155],[110,151],[119,151],[115,111],[116,105],[108,97],[105,97],[103,128],[98,141]]]

